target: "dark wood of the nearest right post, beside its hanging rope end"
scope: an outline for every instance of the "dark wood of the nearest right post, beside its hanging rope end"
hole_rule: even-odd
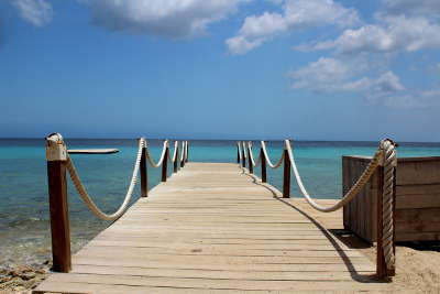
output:
[[[386,262],[383,250],[382,200],[384,188],[384,166],[377,166],[377,227],[376,227],[376,275],[384,279],[387,275]]]

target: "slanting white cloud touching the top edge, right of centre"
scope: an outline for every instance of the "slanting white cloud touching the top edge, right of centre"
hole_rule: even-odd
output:
[[[283,12],[264,12],[245,18],[239,33],[227,40],[229,52],[244,54],[272,37],[297,29],[320,25],[342,28],[359,22],[358,12],[333,0],[285,0]]]

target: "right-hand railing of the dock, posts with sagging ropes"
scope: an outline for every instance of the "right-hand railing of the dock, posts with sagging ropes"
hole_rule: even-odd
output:
[[[238,163],[245,167],[246,157],[240,156],[240,145],[245,149],[244,142],[238,142]],[[266,164],[271,168],[278,168],[284,162],[284,178],[283,178],[283,197],[290,197],[290,171],[293,172],[299,192],[305,197],[306,202],[316,210],[321,213],[336,211],[351,200],[353,200],[360,192],[365,187],[366,183],[372,178],[373,174],[377,171],[381,179],[381,192],[378,193],[378,202],[381,208],[377,211],[377,275],[380,277],[394,275],[395,273],[395,243],[394,243],[394,222],[395,222],[395,168],[397,166],[397,155],[395,151],[395,143],[389,140],[381,141],[377,151],[374,153],[369,165],[365,167],[361,176],[354,185],[343,195],[343,197],[332,206],[319,205],[307,192],[302,178],[299,174],[298,166],[295,161],[293,148],[289,140],[284,142],[284,151],[279,160],[273,164],[268,156],[266,144],[261,141],[260,157],[255,162],[252,152],[252,143],[248,143],[248,170],[253,173],[253,167],[258,163],[262,165],[262,182],[266,182]],[[242,152],[245,154],[245,152]]]

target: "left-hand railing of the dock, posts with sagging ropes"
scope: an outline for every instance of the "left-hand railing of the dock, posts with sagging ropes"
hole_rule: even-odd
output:
[[[174,163],[175,173],[178,171],[179,164],[180,167],[183,167],[184,163],[188,162],[188,142],[183,141],[182,148],[182,156],[179,156],[179,142],[175,141],[173,156],[170,156],[168,140],[165,140],[161,156],[158,161],[155,162],[150,153],[146,140],[141,138],[139,140],[133,173],[124,199],[114,213],[106,214],[96,205],[90,195],[87,193],[86,187],[82,185],[74,161],[68,154],[63,137],[59,133],[50,134],[46,138],[46,157],[51,210],[53,270],[55,272],[69,272],[72,270],[66,181],[67,173],[69,174],[79,196],[95,216],[103,220],[116,220],[127,211],[130,200],[133,196],[134,187],[138,183],[139,174],[141,174],[141,197],[147,196],[146,163],[148,162],[152,167],[162,166],[162,182],[166,182],[168,159]]]

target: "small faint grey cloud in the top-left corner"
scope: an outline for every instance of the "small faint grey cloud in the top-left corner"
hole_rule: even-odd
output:
[[[44,26],[52,21],[53,9],[45,0],[11,0],[20,15],[35,26]]]

